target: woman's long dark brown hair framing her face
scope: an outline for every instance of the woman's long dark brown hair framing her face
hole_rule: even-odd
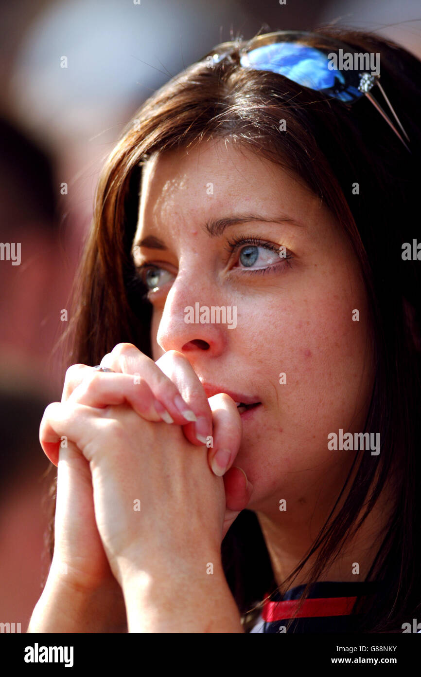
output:
[[[375,603],[360,600],[361,631],[393,632],[420,609],[420,273],[401,259],[412,242],[421,109],[420,62],[391,41],[344,28],[320,34],[380,52],[382,85],[410,137],[409,154],[374,106],[349,110],[272,72],[246,70],[238,50],[209,68],[189,66],[134,114],[109,156],[97,185],[95,214],[74,293],[67,364],[98,364],[128,341],[151,356],[151,305],[136,275],[132,240],[137,225],[142,161],[152,152],[191,148],[226,137],[301,177],[345,229],[360,261],[373,327],[375,383],[366,431],[380,432],[379,456],[357,454],[353,482],[345,483],[311,552],[286,586],[316,554],[310,581],[341,550],[393,479],[393,519],[368,575],[381,580]],[[239,43],[241,45],[241,43]],[[287,133],[280,133],[280,119]],[[353,194],[353,183],[360,194]],[[346,497],[346,498],[345,498]],[[52,541],[51,541],[52,547]],[[244,510],[222,544],[224,571],[244,617],[274,586],[268,552],[253,512]],[[246,626],[247,627],[247,626]]]

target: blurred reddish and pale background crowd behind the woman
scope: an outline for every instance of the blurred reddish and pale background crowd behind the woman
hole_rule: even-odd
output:
[[[0,260],[0,622],[26,632],[48,571],[39,422],[61,398],[56,346],[105,158],[147,97],[217,43],[326,23],[421,58],[418,0],[2,3],[0,242],[20,243],[20,264]]]

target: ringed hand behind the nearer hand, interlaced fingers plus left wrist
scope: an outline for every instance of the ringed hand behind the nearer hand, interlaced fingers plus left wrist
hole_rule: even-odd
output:
[[[241,420],[237,408],[227,395],[216,395],[207,401],[201,383],[183,355],[176,351],[166,353],[158,361],[161,362],[159,369],[152,360],[133,345],[119,344],[112,353],[105,356],[105,362],[107,360],[109,362],[110,358],[114,370],[117,371],[120,368],[130,370],[134,377],[122,372],[101,374],[93,371],[91,367],[75,365],[66,373],[61,401],[65,402],[72,397],[75,402],[91,403],[102,408],[112,403],[128,401],[134,410],[147,420],[174,420],[182,424],[184,434],[194,444],[202,444],[205,439],[210,443],[212,439],[209,439],[207,435],[205,438],[204,435],[204,433],[212,432],[212,427],[209,428],[210,406],[214,427],[214,446],[209,449],[209,462],[218,475],[224,472],[224,468],[218,466],[215,456],[216,452],[225,445],[231,450],[228,468],[232,466],[241,439]],[[167,375],[163,373],[165,371]],[[180,383],[180,390],[174,385],[174,381]],[[187,401],[182,399],[180,392],[187,394],[185,397]],[[189,401],[193,403],[192,408],[187,403]],[[170,418],[168,418],[168,412],[172,414]],[[199,418],[199,431],[196,422],[193,423],[197,418]],[[57,463],[58,449],[53,451],[49,447],[49,452],[52,454],[51,460]],[[55,600],[65,599],[67,596],[65,606],[68,610],[74,607],[74,615],[76,619],[80,619],[78,626],[86,627],[87,623],[93,628],[91,632],[125,632],[126,617],[122,591],[109,569],[95,523],[89,463],[76,450],[74,443],[66,439],[61,440],[59,458],[61,462],[58,471],[55,550],[53,565],[43,592],[44,598],[47,595],[47,607],[50,609],[49,617],[53,619],[52,625],[57,628],[56,614],[51,611],[57,605],[51,604],[51,594]],[[247,478],[243,471],[235,467],[228,470],[224,476],[224,483],[227,509],[222,538],[239,511],[249,501],[252,489],[251,485],[247,486]],[[53,590],[53,593],[50,594],[49,590]],[[86,600],[89,600],[89,603],[86,603]],[[42,598],[37,606],[40,605],[41,615],[45,616],[46,604],[43,603]],[[89,614],[89,609],[92,611],[91,614]],[[66,615],[67,621],[71,615],[71,613]],[[102,617],[116,619],[116,624],[109,629],[101,627],[97,619]],[[96,620],[92,621],[93,618]],[[68,623],[66,628],[62,632],[90,631],[89,629],[75,630]],[[116,628],[122,628],[122,630]],[[31,631],[36,632],[36,630]],[[44,631],[49,632],[49,630]]]

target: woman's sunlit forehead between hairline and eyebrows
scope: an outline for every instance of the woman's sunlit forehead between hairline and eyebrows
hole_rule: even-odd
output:
[[[155,153],[143,165],[137,236],[169,221],[268,207],[308,217],[319,200],[299,177],[230,139]]]

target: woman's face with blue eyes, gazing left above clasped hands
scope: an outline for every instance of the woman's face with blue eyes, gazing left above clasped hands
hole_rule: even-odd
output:
[[[363,432],[372,391],[366,292],[334,217],[278,165],[218,140],[147,161],[134,244],[145,238],[153,359],[180,351],[207,397],[260,403],[241,414],[235,461],[249,508],[330,502],[355,452],[328,450],[328,434]]]

